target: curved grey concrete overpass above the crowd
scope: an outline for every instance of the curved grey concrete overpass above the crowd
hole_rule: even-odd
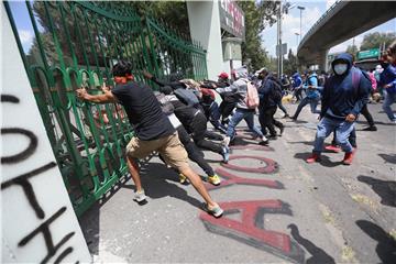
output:
[[[301,40],[300,65],[327,69],[328,51],[355,35],[396,18],[396,1],[338,1]]]

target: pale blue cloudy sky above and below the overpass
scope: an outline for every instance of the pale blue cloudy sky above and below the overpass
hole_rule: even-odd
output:
[[[334,0],[328,0],[328,1],[289,1],[292,4],[301,6],[306,9],[302,11],[301,15],[301,32],[302,37],[305,33],[309,31],[309,29],[315,24],[315,22],[326,12],[326,10],[331,7],[336,1]],[[300,41],[299,36],[296,36],[295,33],[300,32],[300,10],[297,8],[293,8],[289,10],[288,14],[284,14],[283,21],[282,21],[282,40],[283,43],[287,43],[287,50],[292,48],[292,51],[296,54],[298,42]],[[360,44],[363,41],[363,36],[367,33],[372,32],[396,32],[396,19],[393,19],[384,24],[381,24],[376,28],[371,29],[370,31],[366,31],[358,36],[354,37],[354,43],[360,47]],[[262,34],[262,45],[265,47],[265,50],[268,52],[271,56],[275,57],[275,48],[276,48],[276,23],[272,28],[265,29]],[[298,42],[297,42],[298,37]],[[329,51],[329,54],[331,53],[339,53],[339,52],[345,52],[348,45],[352,45],[353,37],[351,40],[348,40],[334,47],[332,47]]]

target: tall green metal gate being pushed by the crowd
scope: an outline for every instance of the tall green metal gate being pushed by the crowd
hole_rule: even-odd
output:
[[[119,105],[76,99],[86,87],[101,92],[118,59],[132,62],[138,80],[147,69],[158,77],[207,77],[206,52],[153,19],[141,19],[128,2],[4,2],[53,152],[77,216],[128,174],[124,146],[133,129]],[[24,9],[34,42],[24,52],[15,21]],[[21,18],[18,18],[21,19]],[[16,22],[16,23],[15,23]],[[154,87],[155,88],[155,87]]]

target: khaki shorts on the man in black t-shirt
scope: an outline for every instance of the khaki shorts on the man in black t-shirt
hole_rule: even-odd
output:
[[[161,154],[166,164],[177,168],[179,172],[189,167],[187,152],[180,143],[177,132],[152,141],[142,141],[133,136],[127,145],[127,155],[129,157],[144,158],[154,151]]]

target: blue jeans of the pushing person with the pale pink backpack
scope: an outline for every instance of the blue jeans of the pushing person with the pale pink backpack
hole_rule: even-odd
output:
[[[254,111],[251,109],[246,110],[240,108],[237,108],[234,114],[232,114],[230,123],[227,128],[227,136],[230,136],[231,140],[233,140],[235,136],[235,128],[243,119],[248,123],[248,128],[251,132],[263,138],[261,130],[254,125]]]

